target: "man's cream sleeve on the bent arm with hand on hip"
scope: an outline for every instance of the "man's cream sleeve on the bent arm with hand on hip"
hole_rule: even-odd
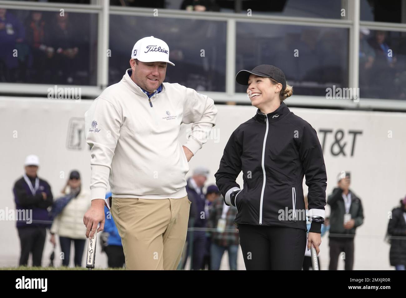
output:
[[[186,87],[185,87],[186,88]],[[193,123],[192,130],[188,134],[186,146],[193,154],[202,148],[210,136],[212,127],[216,125],[217,108],[213,99],[186,88],[184,101],[184,114],[182,122]]]

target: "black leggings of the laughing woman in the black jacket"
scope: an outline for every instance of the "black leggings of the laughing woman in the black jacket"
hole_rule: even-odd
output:
[[[301,270],[306,230],[239,223],[246,270]]]

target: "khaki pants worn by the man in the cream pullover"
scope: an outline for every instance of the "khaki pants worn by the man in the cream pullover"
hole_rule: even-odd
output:
[[[127,270],[176,270],[186,241],[190,204],[181,199],[112,198]]]

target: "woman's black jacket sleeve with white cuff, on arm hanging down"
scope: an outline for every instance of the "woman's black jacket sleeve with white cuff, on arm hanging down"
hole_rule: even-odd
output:
[[[304,127],[302,134],[299,154],[306,176],[306,185],[309,187],[307,194],[309,212],[324,218],[327,174],[322,146],[316,131],[310,124]],[[321,233],[321,224],[312,223],[309,232]]]

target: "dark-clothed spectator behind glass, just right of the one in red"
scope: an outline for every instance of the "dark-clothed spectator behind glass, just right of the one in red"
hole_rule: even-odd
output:
[[[78,34],[73,30],[69,13],[65,12],[61,16],[59,12],[55,14],[55,25],[51,27],[50,45],[55,49],[54,69],[56,73],[57,84],[72,84],[74,69],[76,69],[76,56],[79,48]]]

